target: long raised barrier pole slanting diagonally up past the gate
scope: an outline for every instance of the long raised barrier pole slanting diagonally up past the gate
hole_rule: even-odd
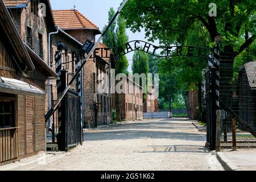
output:
[[[57,102],[55,103],[55,105],[52,107],[51,110],[48,111],[48,113],[46,114],[46,122],[47,120],[51,117],[51,115],[53,114],[54,110],[57,108],[57,106],[60,104],[61,100],[63,100],[65,94],[68,92],[68,90],[71,88],[71,85],[73,84],[73,82],[76,80],[77,76],[79,76],[82,68],[84,67],[84,65],[86,64],[86,62],[90,59],[90,56],[92,56],[94,50],[96,49],[96,47],[98,46],[98,44],[101,42],[101,39],[105,36],[106,32],[108,32],[110,26],[112,25],[112,23],[114,22],[115,18],[117,18],[118,14],[120,13],[120,11],[123,9],[123,6],[125,6],[126,2],[128,0],[124,0],[121,4],[121,6],[119,7],[119,9],[117,10],[117,13],[115,13],[114,17],[112,18],[112,20],[110,21],[108,27],[106,27],[106,30],[103,32],[103,34],[100,36],[100,38],[97,40],[97,42],[94,44],[93,48],[90,50],[90,52],[88,53],[88,56],[86,57],[86,59],[84,60],[84,62],[81,64],[81,67],[77,70],[77,72],[75,73],[75,76],[73,76],[72,80],[69,82],[67,88],[65,88],[65,90],[63,91],[63,93],[61,93],[59,99],[57,100]]]

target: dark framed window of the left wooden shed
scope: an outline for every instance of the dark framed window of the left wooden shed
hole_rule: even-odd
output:
[[[0,98],[0,128],[15,126],[15,97]]]

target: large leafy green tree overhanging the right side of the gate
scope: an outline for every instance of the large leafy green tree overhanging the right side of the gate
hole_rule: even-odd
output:
[[[210,42],[208,46],[214,46],[216,44],[214,38],[221,34],[223,42],[220,48],[224,51],[224,55],[231,56],[234,60],[251,44],[255,44],[256,3],[254,0],[215,1],[217,16],[211,17],[209,16],[211,2],[210,0],[130,0],[122,11],[122,16],[126,19],[127,27],[131,31],[141,31],[141,28],[144,28],[149,40],[158,39],[166,46],[171,44],[188,45],[187,43],[191,43],[188,41],[188,36],[192,38],[191,31],[195,31],[195,36],[200,34],[201,28],[195,26],[195,24],[200,24],[207,31]],[[201,41],[204,42],[204,39]],[[201,41],[194,42],[194,44]],[[230,72],[227,72],[224,78],[226,83],[230,83],[233,77],[233,62],[229,61],[228,63],[231,64]],[[194,68],[196,68],[196,64]],[[190,75],[189,69],[184,73]],[[191,83],[190,85],[195,84]],[[228,90],[225,92],[230,92],[229,84],[224,87],[224,90]],[[229,98],[226,102],[228,100]]]

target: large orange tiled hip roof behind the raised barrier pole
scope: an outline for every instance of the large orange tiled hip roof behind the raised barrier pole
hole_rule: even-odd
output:
[[[91,22],[88,18],[86,18],[77,10],[53,10],[53,17],[55,19],[56,25],[59,26],[61,29],[99,29],[96,24]]]

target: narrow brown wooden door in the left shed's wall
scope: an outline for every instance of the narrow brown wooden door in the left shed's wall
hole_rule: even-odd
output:
[[[26,154],[34,152],[34,97],[26,97]]]

